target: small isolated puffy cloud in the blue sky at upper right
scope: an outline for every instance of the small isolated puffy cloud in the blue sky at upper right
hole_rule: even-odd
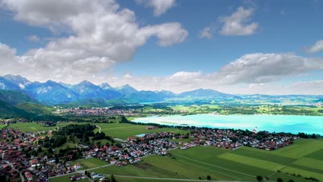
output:
[[[258,23],[248,23],[253,15],[254,9],[237,8],[231,16],[219,17],[219,21],[223,23],[220,30],[222,35],[245,36],[254,34],[258,28]]]

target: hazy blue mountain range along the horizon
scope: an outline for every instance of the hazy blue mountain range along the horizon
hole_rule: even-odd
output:
[[[78,83],[76,85],[70,85],[62,82],[57,83],[55,81],[46,81],[44,83],[41,83],[38,81],[32,82],[19,75],[14,76],[10,74],[0,77],[0,90],[15,90],[15,92],[26,94],[26,96],[30,97],[29,99],[45,105],[69,104],[75,106],[108,106],[124,103],[145,103],[170,100],[198,101],[201,99],[277,99],[288,97],[262,94],[233,95],[218,92],[216,90],[202,88],[175,94],[168,90],[138,91],[128,84],[113,88],[108,83],[95,85],[90,81],[81,81],[81,83]],[[317,96],[315,96],[315,98],[322,99],[322,97]]]

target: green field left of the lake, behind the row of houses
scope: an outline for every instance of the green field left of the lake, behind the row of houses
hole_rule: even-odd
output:
[[[186,133],[185,130],[179,130],[176,128],[158,128],[155,130],[147,130],[147,125],[132,125],[128,123],[95,123],[95,125],[99,125],[101,132],[104,132],[106,135],[119,139],[127,139],[129,136],[152,132]],[[97,132],[99,129],[96,129],[95,131]]]

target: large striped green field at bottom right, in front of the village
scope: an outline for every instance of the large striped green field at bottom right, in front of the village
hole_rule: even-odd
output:
[[[304,146],[306,146],[304,148]],[[309,148],[311,146],[311,148]],[[295,145],[275,151],[255,148],[224,150],[215,147],[199,146],[188,150],[173,150],[169,156],[148,156],[136,165],[119,168],[115,165],[94,170],[101,174],[126,176],[148,176],[172,179],[255,181],[255,176],[269,177],[272,181],[309,181],[305,177],[315,177],[323,181],[323,160],[312,159],[322,151],[323,141],[300,139]],[[290,156],[285,152],[293,152]],[[277,172],[277,171],[280,172]],[[288,173],[288,174],[287,174]],[[300,174],[300,176],[298,176]],[[124,177],[118,177],[126,181]],[[132,181],[140,181],[132,179]],[[143,181],[143,180],[141,180]]]

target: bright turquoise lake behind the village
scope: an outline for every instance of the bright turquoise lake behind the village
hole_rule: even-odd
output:
[[[208,128],[234,128],[268,132],[305,132],[323,135],[323,117],[297,115],[171,115],[134,119],[137,123],[158,123],[162,125],[189,125]]]

